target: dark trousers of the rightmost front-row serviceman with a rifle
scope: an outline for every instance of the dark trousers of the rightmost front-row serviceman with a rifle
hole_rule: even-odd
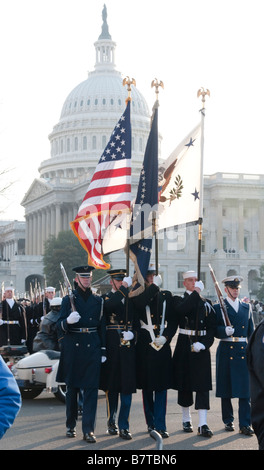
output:
[[[221,408],[222,408],[222,420],[225,424],[233,423],[234,414],[231,398],[221,398]],[[238,399],[238,421],[240,429],[243,426],[250,426],[251,416],[250,416],[250,399],[249,398],[239,398]]]

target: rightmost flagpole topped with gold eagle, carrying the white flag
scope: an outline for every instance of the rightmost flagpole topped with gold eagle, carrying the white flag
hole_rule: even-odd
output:
[[[205,118],[205,96],[210,96],[210,91],[200,88],[197,92],[197,97],[202,97],[201,113],[201,172],[200,172],[200,210],[198,220],[198,266],[197,277],[200,279],[201,275],[201,254],[202,254],[202,233],[203,233],[203,160],[204,160],[204,118]]]

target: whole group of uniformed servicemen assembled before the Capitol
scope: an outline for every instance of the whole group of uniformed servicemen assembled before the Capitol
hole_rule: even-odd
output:
[[[73,268],[75,288],[71,295],[56,297],[55,289],[48,287],[42,301],[32,305],[16,301],[13,288],[8,287],[2,301],[0,346],[9,341],[25,343],[30,354],[40,349],[61,352],[57,380],[66,384],[66,436],[77,434],[81,396],[83,439],[96,442],[98,391],[103,390],[107,432],[132,439],[129,415],[133,394],[141,390],[147,432],[156,430],[163,439],[169,438],[167,393],[174,389],[182,410],[182,431],[193,432],[194,405],[199,417],[197,434],[210,438],[210,348],[215,338],[219,339],[216,396],[221,399],[224,429],[235,430],[232,400],[237,398],[239,432],[252,436],[253,367],[251,361],[249,370],[247,344],[253,336],[254,319],[261,324],[262,313],[260,303],[239,300],[241,276],[222,281],[227,323],[220,304],[203,296],[204,286],[195,271],[183,274],[185,292],[178,296],[161,289],[161,277],[153,265],[144,289],[138,288],[125,269],[112,269],[108,271],[110,292],[98,295],[91,288],[93,269]]]

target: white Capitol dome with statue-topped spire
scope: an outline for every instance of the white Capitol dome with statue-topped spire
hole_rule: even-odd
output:
[[[40,177],[47,181],[80,176],[89,180],[125,109],[128,92],[121,73],[116,70],[116,43],[109,33],[105,6],[102,18],[102,31],[94,43],[94,70],[69,93],[60,120],[49,135],[51,158],[39,167]],[[131,97],[132,168],[138,181],[150,130],[150,113],[135,86]]]

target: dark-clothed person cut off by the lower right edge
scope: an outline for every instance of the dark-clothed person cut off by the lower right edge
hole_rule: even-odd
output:
[[[259,450],[264,450],[264,320],[249,338],[247,363],[252,426],[258,439]]]

